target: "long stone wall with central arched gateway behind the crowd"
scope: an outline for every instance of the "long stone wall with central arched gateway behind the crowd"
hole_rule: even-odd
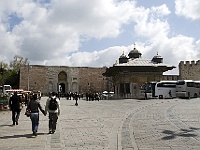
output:
[[[49,93],[103,92],[108,79],[102,74],[106,68],[41,66],[31,65],[20,68],[20,88]]]

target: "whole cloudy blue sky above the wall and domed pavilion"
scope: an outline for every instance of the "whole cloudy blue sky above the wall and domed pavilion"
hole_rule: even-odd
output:
[[[0,61],[112,66],[134,48],[176,66],[200,57],[199,0],[1,0]]]

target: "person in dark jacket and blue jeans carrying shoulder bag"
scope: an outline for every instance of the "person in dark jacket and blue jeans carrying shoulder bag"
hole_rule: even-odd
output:
[[[31,112],[30,119],[32,122],[33,135],[37,136],[39,126],[39,110],[46,116],[44,109],[42,108],[39,100],[37,99],[37,94],[33,95],[31,101],[28,104],[27,110]]]

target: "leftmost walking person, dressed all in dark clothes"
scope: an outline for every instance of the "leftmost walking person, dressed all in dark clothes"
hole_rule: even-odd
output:
[[[17,92],[14,92],[14,95],[9,99],[9,107],[12,111],[12,125],[18,125],[18,120],[21,112],[21,98],[17,95]]]

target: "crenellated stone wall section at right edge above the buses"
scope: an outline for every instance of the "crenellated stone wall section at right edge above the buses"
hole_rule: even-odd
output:
[[[181,61],[179,63],[179,78],[182,80],[200,80],[200,60]]]

